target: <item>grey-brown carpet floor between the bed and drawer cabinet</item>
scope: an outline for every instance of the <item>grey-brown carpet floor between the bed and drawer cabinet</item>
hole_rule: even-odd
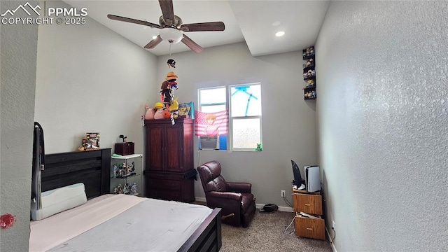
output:
[[[309,239],[294,235],[293,213],[276,211],[270,214],[255,213],[248,228],[222,226],[221,252],[235,251],[316,251],[332,252],[328,240]],[[289,234],[290,235],[287,235]]]

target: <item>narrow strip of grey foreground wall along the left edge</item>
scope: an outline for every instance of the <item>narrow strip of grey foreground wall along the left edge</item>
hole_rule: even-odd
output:
[[[0,13],[37,1],[1,1]],[[15,223],[0,230],[0,251],[28,251],[37,25],[1,25],[0,214]]]

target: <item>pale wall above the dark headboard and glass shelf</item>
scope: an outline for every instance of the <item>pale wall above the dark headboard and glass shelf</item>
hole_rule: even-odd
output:
[[[88,17],[85,25],[41,25],[38,37],[35,120],[45,152],[77,151],[86,132],[99,132],[101,148],[113,152],[124,134],[143,153],[141,115],[156,57]]]

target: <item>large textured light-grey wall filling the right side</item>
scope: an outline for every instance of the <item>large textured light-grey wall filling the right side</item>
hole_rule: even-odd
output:
[[[448,251],[447,4],[330,3],[316,111],[337,251]]]

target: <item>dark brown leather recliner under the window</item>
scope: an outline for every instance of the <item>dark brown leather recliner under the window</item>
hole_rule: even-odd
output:
[[[207,207],[222,209],[223,223],[246,228],[255,214],[255,197],[251,183],[226,182],[218,161],[197,167],[204,188]]]

